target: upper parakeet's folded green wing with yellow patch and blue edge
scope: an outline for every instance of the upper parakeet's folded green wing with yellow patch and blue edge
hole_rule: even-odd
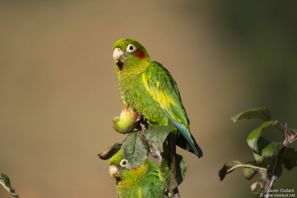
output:
[[[203,155],[200,147],[189,131],[189,119],[181,102],[175,80],[160,63],[151,65],[142,74],[142,81],[150,95],[158,102],[168,118],[175,124],[179,132],[199,158]]]

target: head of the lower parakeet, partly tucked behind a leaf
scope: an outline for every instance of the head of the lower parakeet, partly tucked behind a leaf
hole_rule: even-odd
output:
[[[121,177],[127,174],[128,169],[126,164],[128,160],[124,158],[124,150],[119,150],[112,158],[109,160],[109,175],[112,179],[116,178],[121,180]]]

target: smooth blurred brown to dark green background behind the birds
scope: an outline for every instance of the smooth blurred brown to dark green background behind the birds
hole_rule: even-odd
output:
[[[221,182],[218,171],[252,159],[246,137],[261,121],[230,117],[267,105],[297,128],[296,10],[296,1],[0,1],[0,172],[21,198],[116,197],[97,154],[125,137],[112,129],[123,107],[112,46],[128,37],[175,78],[203,150],[198,159],[178,149],[181,197],[253,197],[255,179],[238,169]],[[296,169],[275,187],[296,189]]]

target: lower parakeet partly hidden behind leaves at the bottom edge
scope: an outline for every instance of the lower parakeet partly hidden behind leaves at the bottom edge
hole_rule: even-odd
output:
[[[138,168],[126,168],[127,159],[124,150],[119,150],[109,161],[109,175],[116,178],[116,189],[119,198],[130,197],[163,197],[164,185],[158,175],[158,166],[149,160]]]

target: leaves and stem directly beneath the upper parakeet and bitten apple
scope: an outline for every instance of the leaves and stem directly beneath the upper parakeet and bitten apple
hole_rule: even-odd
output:
[[[140,167],[146,161],[149,153],[159,159],[159,178],[164,184],[164,190],[173,190],[173,195],[179,197],[178,185],[185,178],[186,163],[181,155],[176,154],[176,140],[171,131],[174,124],[167,126],[147,125],[145,117],[141,116],[137,131],[127,135],[123,142],[115,143],[105,151],[98,154],[100,159],[106,160],[124,149],[125,159],[128,160],[126,168]],[[159,147],[163,148],[163,151]]]

